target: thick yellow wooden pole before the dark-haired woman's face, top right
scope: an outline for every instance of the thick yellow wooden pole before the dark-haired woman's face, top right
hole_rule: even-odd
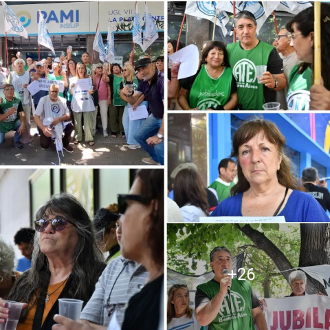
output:
[[[314,85],[321,85],[321,3],[314,3]]]

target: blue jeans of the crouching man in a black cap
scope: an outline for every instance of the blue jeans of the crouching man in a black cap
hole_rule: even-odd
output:
[[[159,127],[162,126],[162,118],[157,119],[153,114],[149,115],[140,126],[140,129],[134,134],[135,140],[141,144],[142,148],[150,155],[150,157],[164,165],[164,140],[154,146],[149,146],[146,140],[158,133]]]

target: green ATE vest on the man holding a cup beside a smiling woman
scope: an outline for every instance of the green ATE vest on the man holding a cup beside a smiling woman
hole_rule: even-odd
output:
[[[263,110],[265,99],[264,84],[259,84],[256,78],[256,65],[267,65],[272,45],[259,41],[253,50],[243,50],[239,43],[227,45],[230,67],[236,79],[237,96],[242,110]]]

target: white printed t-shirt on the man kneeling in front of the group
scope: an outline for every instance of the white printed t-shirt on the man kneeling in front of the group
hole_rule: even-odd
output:
[[[58,96],[58,100],[53,102],[50,100],[50,96],[47,95],[40,99],[35,114],[40,115],[41,122],[43,122],[44,118],[58,118],[66,113],[69,113],[69,109],[67,108],[67,100],[65,98]]]

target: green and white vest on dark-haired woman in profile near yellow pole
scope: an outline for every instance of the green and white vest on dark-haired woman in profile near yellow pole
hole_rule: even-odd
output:
[[[298,73],[299,65],[295,65],[289,75],[289,90],[287,91],[288,110],[309,110],[311,89],[311,68],[307,67],[303,74]]]

